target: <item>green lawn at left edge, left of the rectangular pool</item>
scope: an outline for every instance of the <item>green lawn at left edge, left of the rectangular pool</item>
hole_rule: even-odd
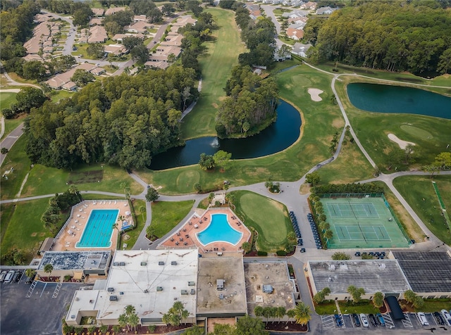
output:
[[[53,236],[49,230],[44,228],[40,220],[48,205],[48,198],[14,203],[13,206],[16,207],[13,207],[13,214],[6,213],[11,217],[9,222],[3,220],[4,205],[2,205],[2,234],[5,229],[1,239],[0,251],[2,254],[11,248],[18,248],[23,251],[27,261],[32,260],[42,241],[46,237]]]

